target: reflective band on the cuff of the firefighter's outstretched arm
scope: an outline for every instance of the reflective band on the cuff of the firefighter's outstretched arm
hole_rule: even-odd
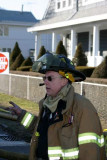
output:
[[[28,128],[32,122],[34,118],[34,115],[32,115],[31,113],[26,113],[25,116],[23,117],[21,124],[25,127]]]

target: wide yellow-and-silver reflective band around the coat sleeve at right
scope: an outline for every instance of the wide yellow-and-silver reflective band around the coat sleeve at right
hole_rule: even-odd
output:
[[[99,147],[104,146],[104,136],[99,136],[93,132],[79,134],[78,141],[79,145],[86,143],[96,143]]]

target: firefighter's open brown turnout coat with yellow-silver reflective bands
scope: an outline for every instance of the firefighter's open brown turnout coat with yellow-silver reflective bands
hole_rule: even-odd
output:
[[[43,115],[43,101],[44,99],[39,103],[38,117],[26,111],[19,117],[26,128],[34,128],[29,160],[38,160],[36,149],[40,135],[37,127]],[[64,101],[66,108],[62,110],[62,120],[48,128],[49,160],[105,160],[102,128],[91,102],[75,93],[73,86]],[[56,116],[55,119],[57,118]]]

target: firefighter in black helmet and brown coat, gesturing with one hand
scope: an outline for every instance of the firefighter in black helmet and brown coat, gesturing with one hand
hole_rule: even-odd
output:
[[[10,102],[21,124],[34,130],[29,160],[105,160],[98,114],[72,86],[85,80],[84,74],[64,55],[52,53],[35,61],[32,70],[44,74],[46,87],[38,117]]]

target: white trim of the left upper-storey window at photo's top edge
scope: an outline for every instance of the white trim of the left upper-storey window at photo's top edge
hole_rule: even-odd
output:
[[[63,6],[63,0],[56,0],[55,2],[55,11],[56,12],[60,12],[60,11],[64,11],[64,10],[68,10],[68,9],[72,9],[73,8],[73,0],[71,0],[72,2],[72,5],[71,6],[68,6],[68,0],[65,0],[66,1],[66,7],[62,7]],[[57,9],[57,3],[60,2],[61,3],[61,7],[60,9]]]

